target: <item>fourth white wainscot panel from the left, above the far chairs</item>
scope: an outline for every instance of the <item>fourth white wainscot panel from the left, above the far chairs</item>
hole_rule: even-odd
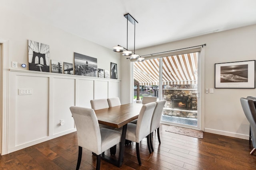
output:
[[[108,98],[108,82],[106,81],[94,81],[94,99],[106,99]]]

